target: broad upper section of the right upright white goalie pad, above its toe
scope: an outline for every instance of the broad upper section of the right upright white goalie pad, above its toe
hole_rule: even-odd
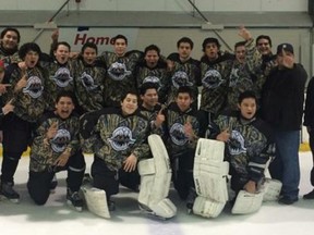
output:
[[[225,144],[201,138],[194,159],[194,183],[198,196],[225,202],[228,200],[229,162],[224,162]]]

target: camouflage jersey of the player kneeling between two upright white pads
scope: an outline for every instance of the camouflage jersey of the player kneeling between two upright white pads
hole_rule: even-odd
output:
[[[190,141],[184,134],[184,124],[190,122],[194,134],[200,135],[201,124],[197,119],[197,111],[190,108],[185,112],[180,111],[178,104],[172,102],[167,109],[166,125],[167,140],[165,143],[169,157],[172,158],[178,153],[184,152],[186,149],[195,149],[197,139]]]

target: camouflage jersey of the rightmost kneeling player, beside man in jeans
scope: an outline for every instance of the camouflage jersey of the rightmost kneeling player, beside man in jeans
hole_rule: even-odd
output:
[[[225,158],[243,181],[259,182],[266,162],[275,157],[275,143],[269,126],[261,119],[244,120],[240,113],[219,115],[212,124],[210,138],[225,131],[230,132],[226,143]]]

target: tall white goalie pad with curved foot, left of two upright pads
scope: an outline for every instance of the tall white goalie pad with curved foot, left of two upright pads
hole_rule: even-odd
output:
[[[141,187],[140,207],[147,212],[170,219],[177,214],[176,206],[167,198],[171,182],[171,168],[166,147],[158,135],[148,136],[153,159],[138,162]]]

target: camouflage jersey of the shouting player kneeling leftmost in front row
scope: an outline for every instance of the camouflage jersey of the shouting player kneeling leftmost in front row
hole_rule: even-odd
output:
[[[56,122],[58,123],[57,135],[47,140],[48,128]],[[67,120],[62,120],[53,112],[46,113],[38,123],[31,148],[29,171],[53,170],[56,160],[65,150],[73,156],[80,149],[78,127],[78,116],[72,114]]]

